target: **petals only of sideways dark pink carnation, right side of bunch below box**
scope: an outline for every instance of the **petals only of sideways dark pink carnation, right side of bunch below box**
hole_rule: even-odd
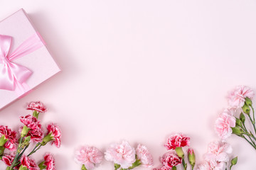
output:
[[[56,147],[60,147],[61,131],[58,125],[51,123],[47,126],[47,130],[47,134],[51,134],[51,136],[53,137],[52,144],[54,143]]]

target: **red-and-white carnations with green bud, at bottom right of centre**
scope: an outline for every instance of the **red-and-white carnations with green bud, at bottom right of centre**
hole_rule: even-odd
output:
[[[183,152],[183,147],[189,147],[190,137],[183,134],[175,134],[168,137],[166,144],[164,145],[167,150],[161,158],[160,162],[162,166],[154,170],[176,170],[176,166],[179,164],[183,165],[183,169],[187,169],[188,164],[186,163],[185,154]],[[191,169],[193,170],[196,164],[196,155],[193,149],[188,148],[188,162],[191,164]]]

